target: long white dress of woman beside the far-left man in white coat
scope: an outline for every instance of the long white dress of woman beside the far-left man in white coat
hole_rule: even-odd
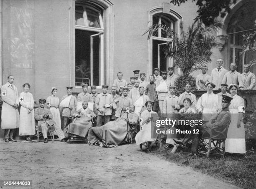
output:
[[[20,93],[20,136],[30,136],[36,134],[35,132],[35,118],[34,109],[30,112],[28,108],[34,108],[33,95],[29,92]]]

